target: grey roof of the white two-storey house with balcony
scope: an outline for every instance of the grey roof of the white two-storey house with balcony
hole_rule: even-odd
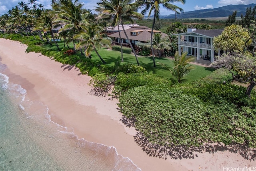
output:
[[[209,38],[214,38],[216,36],[219,36],[224,29],[214,29],[214,30],[195,30],[193,32],[186,32],[186,33],[180,33],[180,34],[173,34],[174,36],[178,35],[193,35],[193,34],[198,34],[201,36],[209,37]]]

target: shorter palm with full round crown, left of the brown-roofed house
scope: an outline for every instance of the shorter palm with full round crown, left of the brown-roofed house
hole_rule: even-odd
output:
[[[86,24],[85,26],[81,26],[83,28],[83,32],[74,36],[73,39],[80,40],[78,44],[76,44],[76,48],[84,48],[85,56],[89,57],[91,52],[94,50],[103,64],[106,62],[102,59],[97,49],[99,50],[102,46],[110,47],[111,40],[108,38],[104,38],[103,29],[97,24]]]

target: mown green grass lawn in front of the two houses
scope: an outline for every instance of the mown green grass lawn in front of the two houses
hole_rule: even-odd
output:
[[[64,44],[63,42],[58,42],[58,46],[60,49],[64,48]],[[70,48],[73,48],[73,44],[70,43],[69,44]],[[55,46],[55,44],[53,43],[52,45],[42,45],[43,48],[45,48],[46,50],[54,50],[57,51],[57,47]],[[119,51],[113,51],[113,50],[108,50],[107,48],[102,48],[100,50],[98,50],[100,56],[104,59],[104,61],[106,62],[105,65],[107,66],[114,66],[116,64],[116,62],[121,62],[121,52]],[[77,51],[76,55],[80,56],[80,58],[85,58],[84,56],[81,56],[80,51]],[[102,64],[100,58],[97,56],[97,54],[95,52],[92,52],[91,54],[92,56],[92,60],[95,61],[97,64]],[[134,64],[137,65],[135,56],[132,54],[123,54],[124,56],[124,62],[121,63],[121,65],[123,64]],[[164,66],[162,66],[160,63],[168,66],[169,68],[173,67],[173,63],[172,63],[172,59],[171,58],[155,58],[156,61],[156,68],[153,67],[153,59],[152,57],[144,57],[144,56],[138,56],[138,61],[140,63],[140,66],[143,66],[144,68],[146,68],[146,70],[149,73],[153,73],[156,74],[158,76],[162,76],[165,78],[170,78],[172,80],[176,80],[172,74],[170,73],[170,71],[165,68]],[[208,74],[210,74],[211,72],[214,71],[213,68],[207,68],[207,67],[203,67],[203,66],[198,66],[198,65],[193,65],[195,67],[194,70],[192,70],[188,75],[186,75],[182,82],[183,83],[189,83],[192,82],[194,80],[197,80],[199,78],[202,78],[204,76],[207,76]]]

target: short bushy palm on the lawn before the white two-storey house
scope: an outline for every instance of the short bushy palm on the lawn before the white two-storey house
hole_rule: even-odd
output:
[[[179,56],[178,51],[176,51],[174,56],[174,67],[171,70],[172,75],[181,83],[181,78],[193,70],[194,67],[189,64],[195,60],[194,56],[187,57],[188,52],[182,52]]]

